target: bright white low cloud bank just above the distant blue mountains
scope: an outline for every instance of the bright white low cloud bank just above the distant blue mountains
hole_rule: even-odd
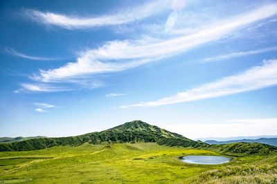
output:
[[[274,135],[277,132],[277,118],[240,119],[222,123],[190,123],[164,125],[166,130],[177,132],[190,139],[198,137],[232,137]]]

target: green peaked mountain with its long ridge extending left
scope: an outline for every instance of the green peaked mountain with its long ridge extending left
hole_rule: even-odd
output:
[[[102,132],[92,132],[80,136],[60,138],[28,139],[14,143],[1,143],[0,151],[26,151],[41,150],[57,145],[77,146],[83,143],[100,144],[107,143],[136,143],[153,142],[159,145],[199,147],[206,143],[193,141],[176,133],[163,130],[157,126],[149,125],[143,121],[132,121],[113,127]]]

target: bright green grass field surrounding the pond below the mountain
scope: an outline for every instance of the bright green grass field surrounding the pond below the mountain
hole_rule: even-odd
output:
[[[0,183],[277,183],[276,154],[232,156],[223,165],[178,159],[191,154],[219,155],[157,143],[84,143],[0,152]]]

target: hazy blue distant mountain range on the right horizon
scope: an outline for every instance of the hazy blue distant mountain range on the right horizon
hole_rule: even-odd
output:
[[[260,139],[240,139],[240,140],[231,140],[231,141],[215,141],[207,140],[205,143],[210,145],[223,145],[229,143],[262,143],[267,145],[277,146],[277,138],[260,138]]]

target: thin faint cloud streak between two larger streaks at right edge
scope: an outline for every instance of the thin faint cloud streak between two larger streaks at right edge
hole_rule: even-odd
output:
[[[209,57],[206,59],[203,59],[201,62],[202,63],[208,63],[208,62],[213,62],[213,61],[220,61],[224,59],[231,59],[233,57],[243,57],[243,56],[249,56],[253,54],[260,54],[264,52],[271,52],[271,51],[276,51],[277,47],[272,47],[272,48],[263,48],[263,49],[258,49],[258,50],[249,50],[249,51],[244,51],[244,52],[233,52],[229,54],[224,54],[216,57]]]

